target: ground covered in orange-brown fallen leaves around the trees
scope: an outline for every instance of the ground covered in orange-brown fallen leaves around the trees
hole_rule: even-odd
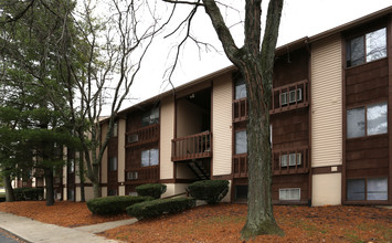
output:
[[[127,215],[92,215],[85,203],[0,203],[0,211],[63,226],[120,220]],[[254,242],[392,242],[392,209],[373,207],[274,207],[286,235],[258,236]],[[242,242],[246,205],[203,205],[160,219],[116,228],[102,235],[125,242]]]

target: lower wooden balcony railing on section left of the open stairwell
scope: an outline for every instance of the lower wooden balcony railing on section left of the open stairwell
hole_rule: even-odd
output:
[[[159,181],[159,166],[141,167],[126,170],[127,183],[156,183]]]

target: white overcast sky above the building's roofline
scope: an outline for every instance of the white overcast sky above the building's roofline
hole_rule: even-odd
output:
[[[243,6],[244,1],[225,0],[222,2]],[[285,0],[278,46],[304,36],[315,35],[391,4],[392,0]],[[266,8],[264,9],[266,12]],[[188,11],[183,10],[182,12]],[[240,20],[239,15],[240,13],[229,10],[226,20],[236,23]],[[241,43],[243,40],[241,24],[233,28],[232,32],[236,42]],[[203,52],[199,55],[195,45],[189,42],[180,55],[180,64],[172,77],[174,86],[231,65],[222,52],[210,19],[201,8],[192,23],[192,33],[200,41],[212,43],[220,52]],[[176,45],[176,41],[180,41],[180,39],[176,40],[176,36],[171,36],[166,40],[156,40],[131,87],[131,103],[127,103],[125,107],[156,96],[162,93],[165,87],[167,87],[166,91],[170,88],[167,83],[162,82],[165,71],[173,61],[172,56],[169,56],[169,51]]]

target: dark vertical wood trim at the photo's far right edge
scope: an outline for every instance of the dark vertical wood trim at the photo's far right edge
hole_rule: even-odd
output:
[[[389,17],[386,25],[386,55],[388,55],[388,83],[389,83],[389,101],[388,101],[388,134],[389,134],[389,178],[388,178],[388,199],[392,203],[392,15]]]

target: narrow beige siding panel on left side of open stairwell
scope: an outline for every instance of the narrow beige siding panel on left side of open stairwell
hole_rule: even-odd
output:
[[[173,178],[171,139],[174,136],[174,99],[167,97],[160,106],[160,179]]]

